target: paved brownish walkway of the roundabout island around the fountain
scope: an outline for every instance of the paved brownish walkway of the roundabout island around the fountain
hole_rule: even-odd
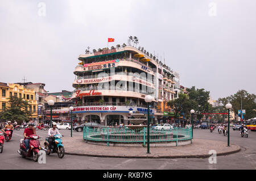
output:
[[[43,142],[40,144],[43,146]],[[82,137],[63,137],[65,154],[84,155],[89,157],[113,158],[208,158],[209,150],[216,150],[218,155],[227,155],[240,151],[240,146],[226,142],[193,139],[192,144],[170,147],[150,147],[147,154],[146,147],[104,146],[86,143]],[[212,154],[211,154],[212,155]]]

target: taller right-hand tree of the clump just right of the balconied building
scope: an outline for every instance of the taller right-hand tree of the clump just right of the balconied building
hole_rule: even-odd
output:
[[[210,99],[210,92],[205,91],[204,89],[196,89],[195,86],[191,87],[191,89],[187,89],[189,99],[195,100],[197,103],[193,110],[196,111],[196,117],[200,121],[204,115],[201,113],[208,113],[212,106],[208,102]],[[208,117],[208,116],[206,116]]]

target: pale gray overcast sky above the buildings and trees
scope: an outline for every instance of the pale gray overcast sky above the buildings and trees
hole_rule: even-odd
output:
[[[40,10],[46,5],[46,16]],[[163,54],[181,85],[213,99],[245,89],[256,93],[256,1],[0,0],[0,82],[46,83],[73,90],[73,71],[86,47],[127,44]],[[216,7],[216,8],[215,8]]]

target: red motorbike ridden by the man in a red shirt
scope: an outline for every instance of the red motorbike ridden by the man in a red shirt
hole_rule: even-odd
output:
[[[39,136],[36,134],[32,134],[29,137],[31,140],[30,140],[30,146],[28,151],[26,151],[26,146],[25,146],[24,140],[22,139],[20,140],[18,153],[22,156],[22,158],[32,157],[32,159],[35,162],[37,162],[39,157],[38,153],[39,153],[39,150],[41,149],[41,145],[38,140]]]

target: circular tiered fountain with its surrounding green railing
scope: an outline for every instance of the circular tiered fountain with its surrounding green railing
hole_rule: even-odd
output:
[[[93,144],[112,144],[115,146],[145,146],[147,140],[147,121],[142,118],[145,115],[136,111],[130,111],[131,118],[128,119],[133,125],[125,125],[123,128],[102,127],[98,129],[85,128],[84,140]],[[156,130],[150,128],[149,140],[151,146],[177,146],[191,144],[192,133],[190,129],[171,128],[168,130]],[[179,142],[179,144],[178,144]]]

